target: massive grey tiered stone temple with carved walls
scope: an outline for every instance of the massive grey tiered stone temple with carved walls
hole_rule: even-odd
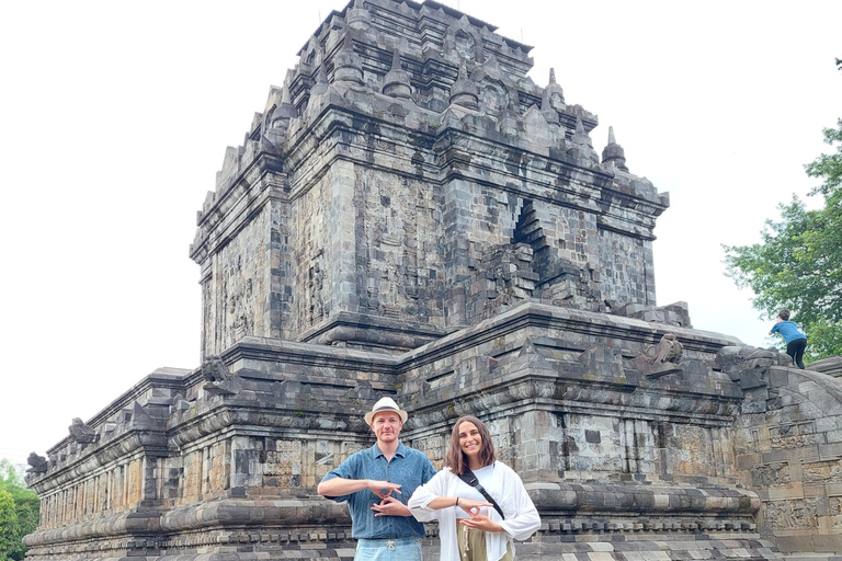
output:
[[[31,457],[30,559],[352,559],[316,485],[383,396],[436,467],[489,423],[543,519],[519,559],[839,559],[840,380],[656,305],[667,194],[494,30],[328,16],[198,213],[201,366]]]

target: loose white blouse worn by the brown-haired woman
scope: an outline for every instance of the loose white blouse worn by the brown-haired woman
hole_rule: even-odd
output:
[[[538,511],[523,486],[520,476],[502,461],[494,462],[493,474],[488,484],[482,486],[502,508],[505,519],[494,508],[489,508],[488,517],[499,524],[504,533],[486,534],[486,553],[488,561],[499,561],[505,554],[507,543],[528,539],[541,527]],[[483,478],[485,479],[485,478]],[[439,520],[439,539],[441,541],[441,561],[459,561],[459,548],[456,541],[456,510],[450,506],[439,511],[426,505],[439,496],[458,496],[457,488],[463,481],[458,476],[444,468],[433,479],[416,489],[409,500],[409,511],[420,522]]]

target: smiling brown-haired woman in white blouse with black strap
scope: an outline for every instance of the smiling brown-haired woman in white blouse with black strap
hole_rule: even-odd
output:
[[[444,469],[416,489],[409,511],[421,522],[439,520],[441,561],[513,561],[513,539],[525,540],[541,518],[517,473],[494,459],[485,423],[475,416],[456,422]],[[504,517],[477,488],[459,478],[473,471]]]

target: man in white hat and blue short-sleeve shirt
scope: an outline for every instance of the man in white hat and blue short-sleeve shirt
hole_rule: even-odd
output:
[[[420,538],[426,534],[407,502],[435,469],[426,456],[398,440],[406,420],[395,400],[382,398],[365,414],[377,443],[351,455],[319,483],[320,495],[348,501],[356,561],[421,561]]]

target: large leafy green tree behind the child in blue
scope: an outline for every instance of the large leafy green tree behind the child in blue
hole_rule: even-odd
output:
[[[842,60],[837,67],[842,70]],[[842,355],[842,118],[837,126],[823,130],[835,153],[805,165],[807,175],[822,180],[809,196],[823,197],[824,206],[807,210],[793,196],[778,206],[780,220],[766,220],[761,243],[724,245],[726,275],[753,290],[752,305],[766,319],[793,310],[813,360]]]

